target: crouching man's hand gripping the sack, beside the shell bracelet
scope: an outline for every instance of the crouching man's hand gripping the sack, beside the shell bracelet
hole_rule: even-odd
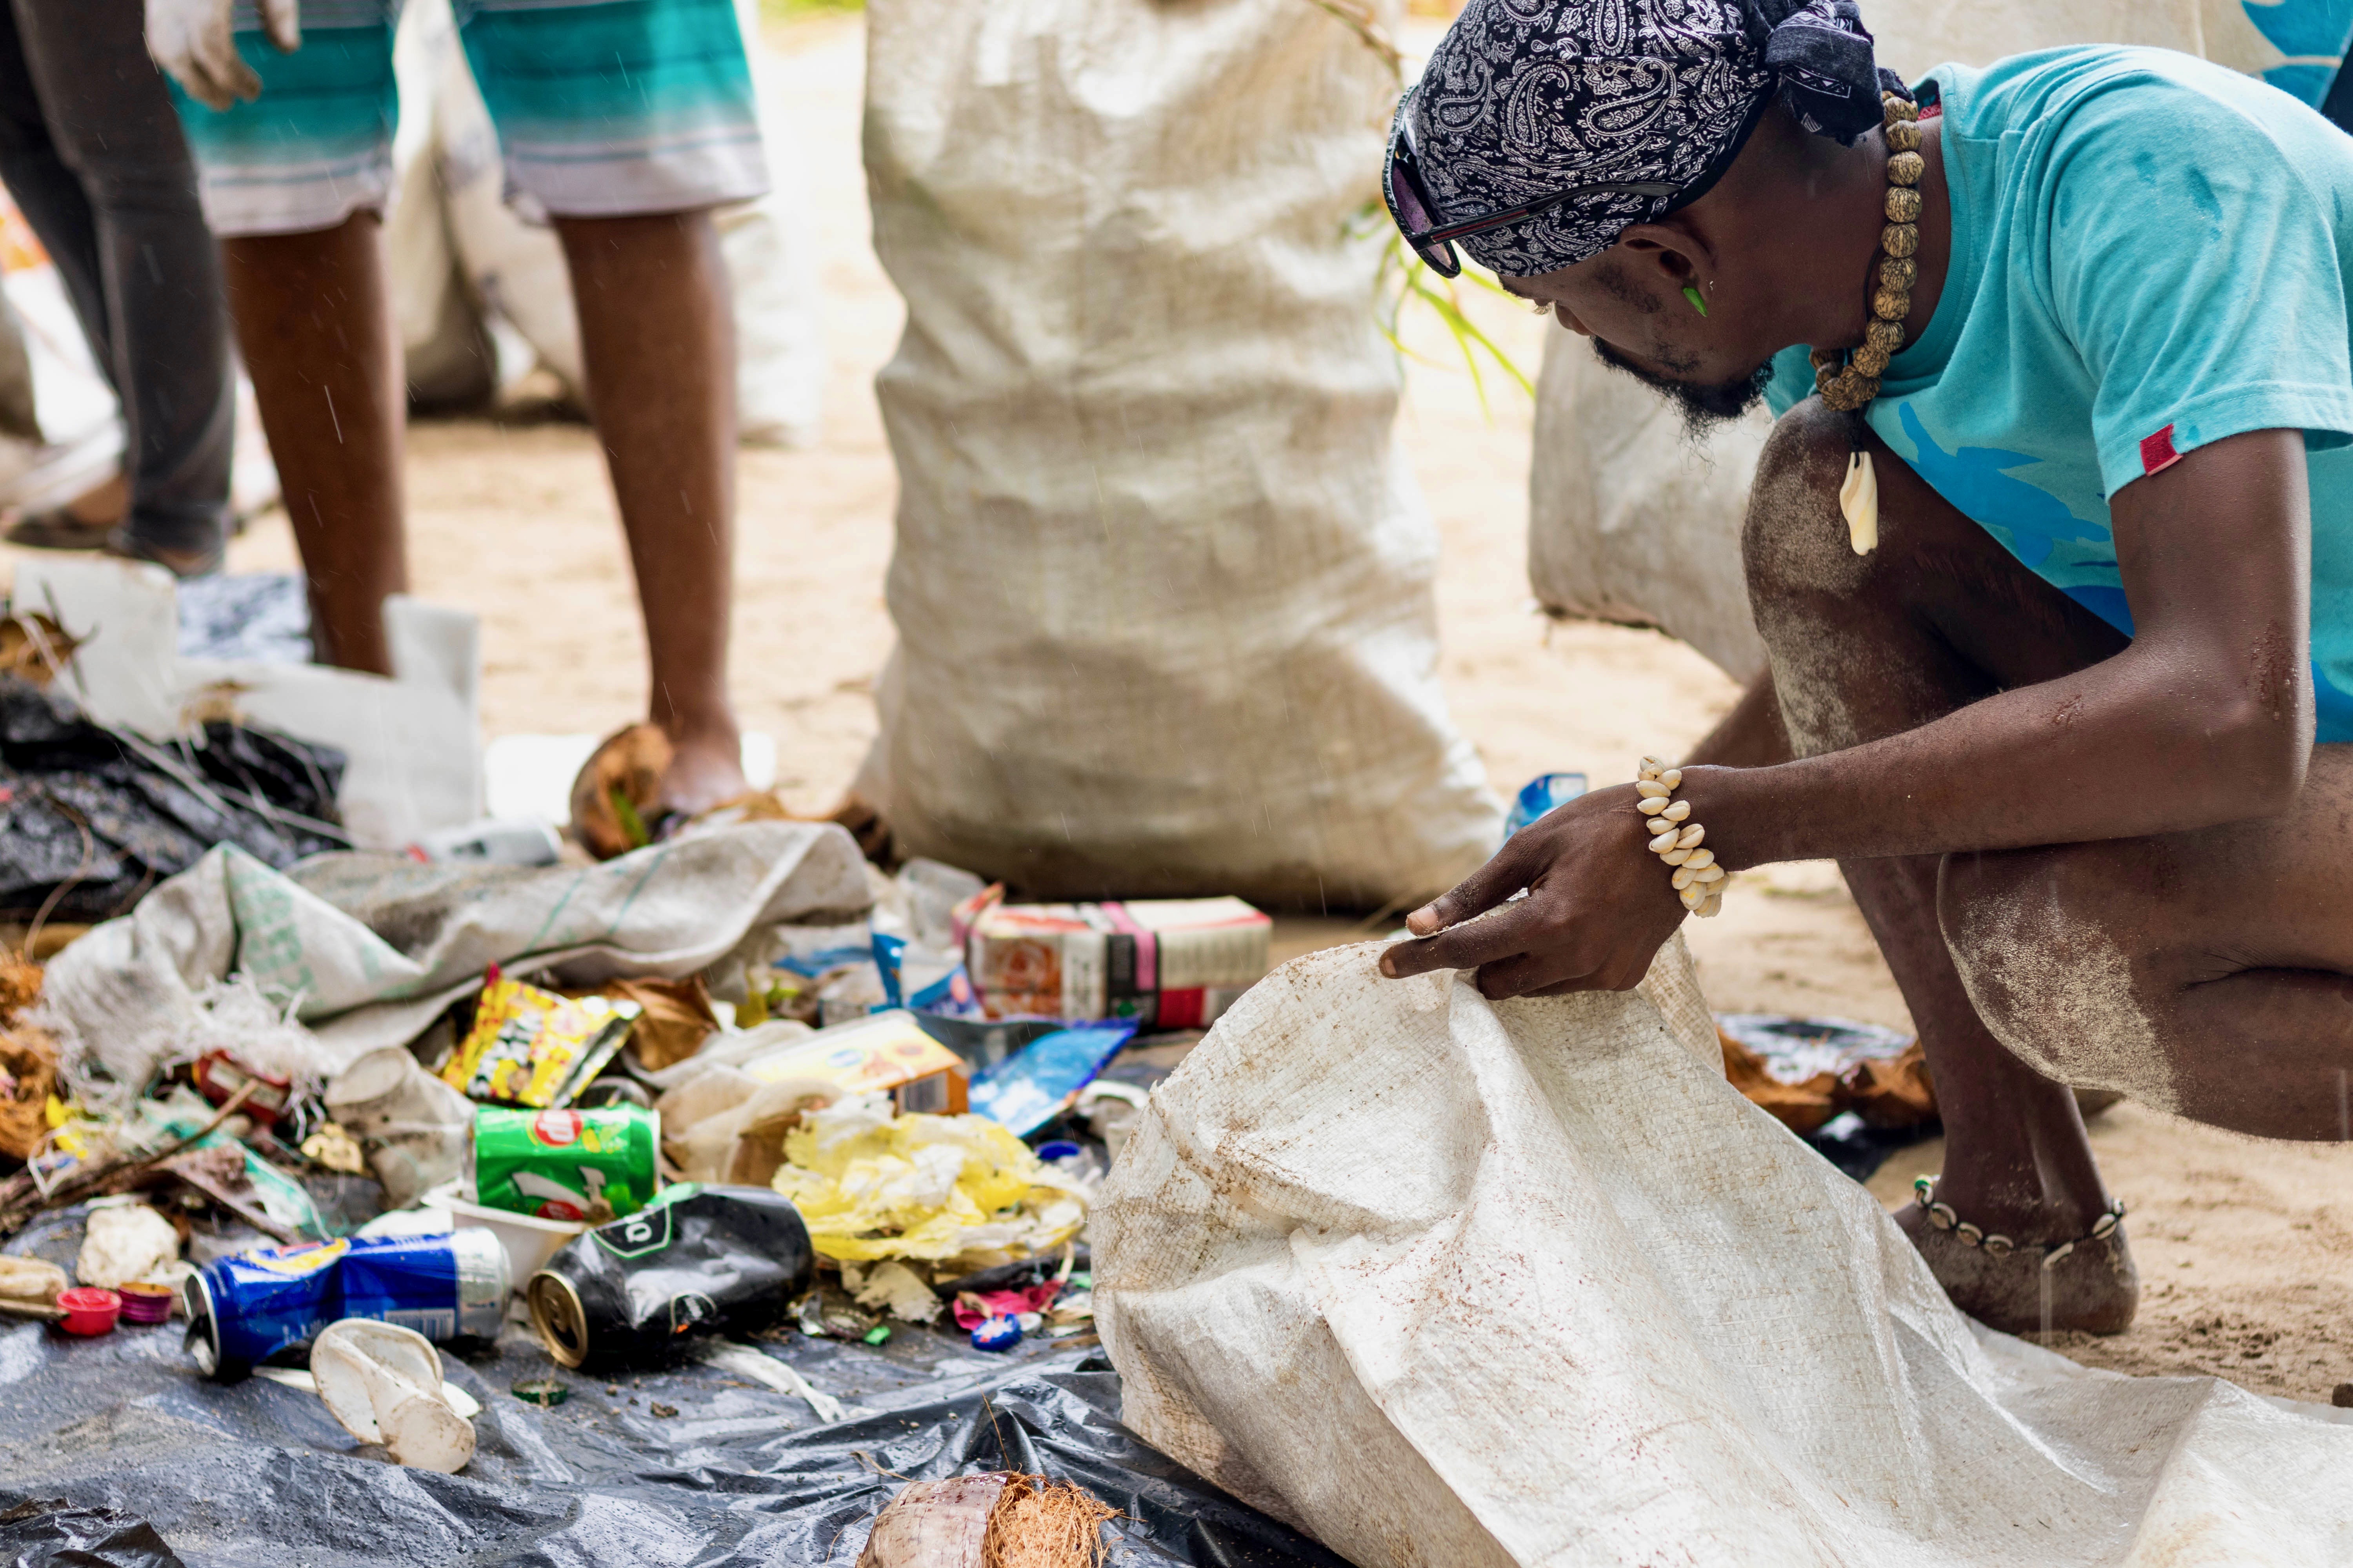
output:
[[[1384,952],[1381,973],[1478,969],[1480,994],[1497,999],[1640,985],[1682,924],[1682,900],[1647,853],[1635,799],[1633,785],[1602,790],[1515,832],[1461,886],[1407,917],[1419,940]],[[1513,900],[1520,889],[1527,898]]]

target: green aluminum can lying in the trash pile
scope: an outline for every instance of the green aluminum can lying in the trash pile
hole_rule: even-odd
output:
[[[661,1117],[635,1105],[473,1112],[473,1187],[485,1208],[541,1220],[619,1220],[661,1187]]]

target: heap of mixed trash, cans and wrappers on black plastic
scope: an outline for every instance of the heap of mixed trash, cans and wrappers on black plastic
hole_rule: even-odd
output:
[[[1268,966],[1271,922],[1233,898],[1016,905],[936,863],[882,877],[807,823],[595,867],[256,860],[212,851],[47,973],[0,966],[0,1335],[38,1319],[73,1356],[172,1326],[186,1387],[294,1389],[339,1434],[313,1427],[322,1453],[461,1479],[492,1415],[602,1380],[861,1418],[779,1345],[934,1382],[1075,1366],[1089,1211],[1165,1077],[1132,1046],[1198,1039]],[[468,943],[494,957],[445,990]],[[492,1361],[527,1375],[464,1375]],[[1066,1507],[1059,1467],[991,1495],[1000,1535],[1068,1526],[1096,1561],[1108,1509]]]

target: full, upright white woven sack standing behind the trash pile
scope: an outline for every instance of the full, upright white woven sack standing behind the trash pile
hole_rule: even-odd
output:
[[[1379,905],[1494,846],[1374,329],[1388,68],[1306,0],[875,0],[911,853]]]

